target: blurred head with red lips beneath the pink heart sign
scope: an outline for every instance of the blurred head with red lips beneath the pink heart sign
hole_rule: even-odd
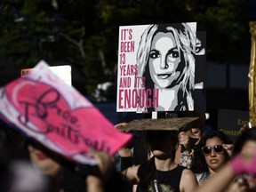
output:
[[[57,155],[34,140],[28,140],[28,153],[33,166],[54,180],[53,191],[75,192],[85,190],[84,176],[76,172],[75,164]]]

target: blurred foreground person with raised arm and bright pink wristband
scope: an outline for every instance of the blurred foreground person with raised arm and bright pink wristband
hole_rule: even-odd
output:
[[[244,183],[243,183],[243,182]],[[233,184],[234,188],[230,188]],[[256,191],[256,127],[246,128],[235,141],[231,160],[195,192]]]

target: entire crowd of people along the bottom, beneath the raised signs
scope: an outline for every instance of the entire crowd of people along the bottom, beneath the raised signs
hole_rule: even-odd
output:
[[[1,124],[1,191],[256,191],[256,128],[244,126],[233,143],[223,132],[205,132],[198,118],[180,129],[148,130],[136,140],[145,148],[138,151],[131,142],[116,156],[90,151],[98,163],[91,166],[70,162]],[[133,156],[143,160],[134,164]]]

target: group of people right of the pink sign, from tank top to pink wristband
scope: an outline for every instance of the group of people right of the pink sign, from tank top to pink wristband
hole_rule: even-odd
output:
[[[163,130],[148,132],[146,142],[151,157],[145,164],[132,165],[130,161],[130,166],[127,156],[130,154],[132,158],[132,153],[127,148],[121,150],[119,154],[124,156],[121,157],[124,158],[122,172],[128,180],[135,181],[134,191],[256,190],[256,130],[244,126],[246,131],[232,143],[223,132],[204,132],[199,124],[196,125],[184,127],[176,133]],[[172,137],[172,144],[166,132],[176,135],[176,140]],[[153,139],[150,140],[151,137]],[[177,172],[179,167],[183,169]],[[146,171],[143,172],[144,169]],[[172,172],[175,172],[174,178]]]

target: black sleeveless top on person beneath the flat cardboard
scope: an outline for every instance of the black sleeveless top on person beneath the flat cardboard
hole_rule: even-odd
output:
[[[156,185],[156,181],[158,181],[158,183],[160,184],[162,192],[180,192],[180,178],[184,169],[186,169],[186,167],[178,165],[171,171],[156,171],[156,177],[154,178],[154,180],[151,180],[151,185],[148,186],[148,192],[156,191],[156,189],[154,188],[154,186]],[[137,192],[141,192],[140,183],[138,184]]]

